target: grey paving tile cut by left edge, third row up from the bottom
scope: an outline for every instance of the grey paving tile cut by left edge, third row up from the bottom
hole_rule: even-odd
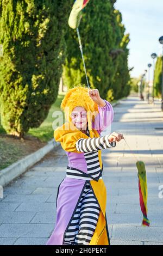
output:
[[[29,223],[36,212],[0,212],[0,223]]]

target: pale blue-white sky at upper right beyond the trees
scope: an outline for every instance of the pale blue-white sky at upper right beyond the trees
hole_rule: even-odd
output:
[[[117,0],[115,8],[130,33],[128,66],[134,66],[130,74],[139,77],[148,63],[153,64],[151,54],[162,54],[158,40],[163,35],[163,0]]]

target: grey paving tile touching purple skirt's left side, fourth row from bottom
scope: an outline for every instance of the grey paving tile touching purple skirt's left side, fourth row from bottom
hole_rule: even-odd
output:
[[[20,206],[16,209],[16,211],[24,211],[24,212],[48,212],[48,211],[55,211],[54,203],[21,203]]]

